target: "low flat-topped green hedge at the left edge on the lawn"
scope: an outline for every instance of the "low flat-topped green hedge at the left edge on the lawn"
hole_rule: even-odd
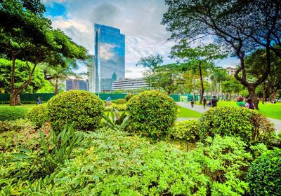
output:
[[[28,109],[24,109],[20,106],[1,106],[0,121],[25,118],[27,111]]]

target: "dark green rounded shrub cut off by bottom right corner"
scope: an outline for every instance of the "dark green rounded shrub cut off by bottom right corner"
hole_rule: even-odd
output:
[[[248,170],[250,195],[280,195],[281,149],[267,151],[251,163]]]

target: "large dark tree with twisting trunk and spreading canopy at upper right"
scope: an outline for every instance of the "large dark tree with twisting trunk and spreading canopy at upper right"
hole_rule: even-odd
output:
[[[255,88],[266,80],[270,72],[270,50],[280,48],[281,13],[280,1],[219,1],[219,0],[166,0],[169,6],[164,14],[163,25],[171,31],[174,40],[192,43],[204,38],[214,39],[240,59],[235,78],[249,92],[258,108]],[[252,50],[266,49],[266,70],[258,80],[247,80],[244,57]],[[242,74],[240,74],[240,72]]]

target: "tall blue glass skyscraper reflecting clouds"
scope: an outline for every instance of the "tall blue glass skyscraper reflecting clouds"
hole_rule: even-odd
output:
[[[95,24],[95,91],[111,91],[125,78],[125,36],[120,29]]]

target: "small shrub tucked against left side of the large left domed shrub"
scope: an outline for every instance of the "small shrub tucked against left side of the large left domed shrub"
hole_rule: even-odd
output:
[[[27,112],[27,118],[35,123],[37,127],[42,127],[46,121],[48,121],[47,104],[39,104],[35,106]]]

